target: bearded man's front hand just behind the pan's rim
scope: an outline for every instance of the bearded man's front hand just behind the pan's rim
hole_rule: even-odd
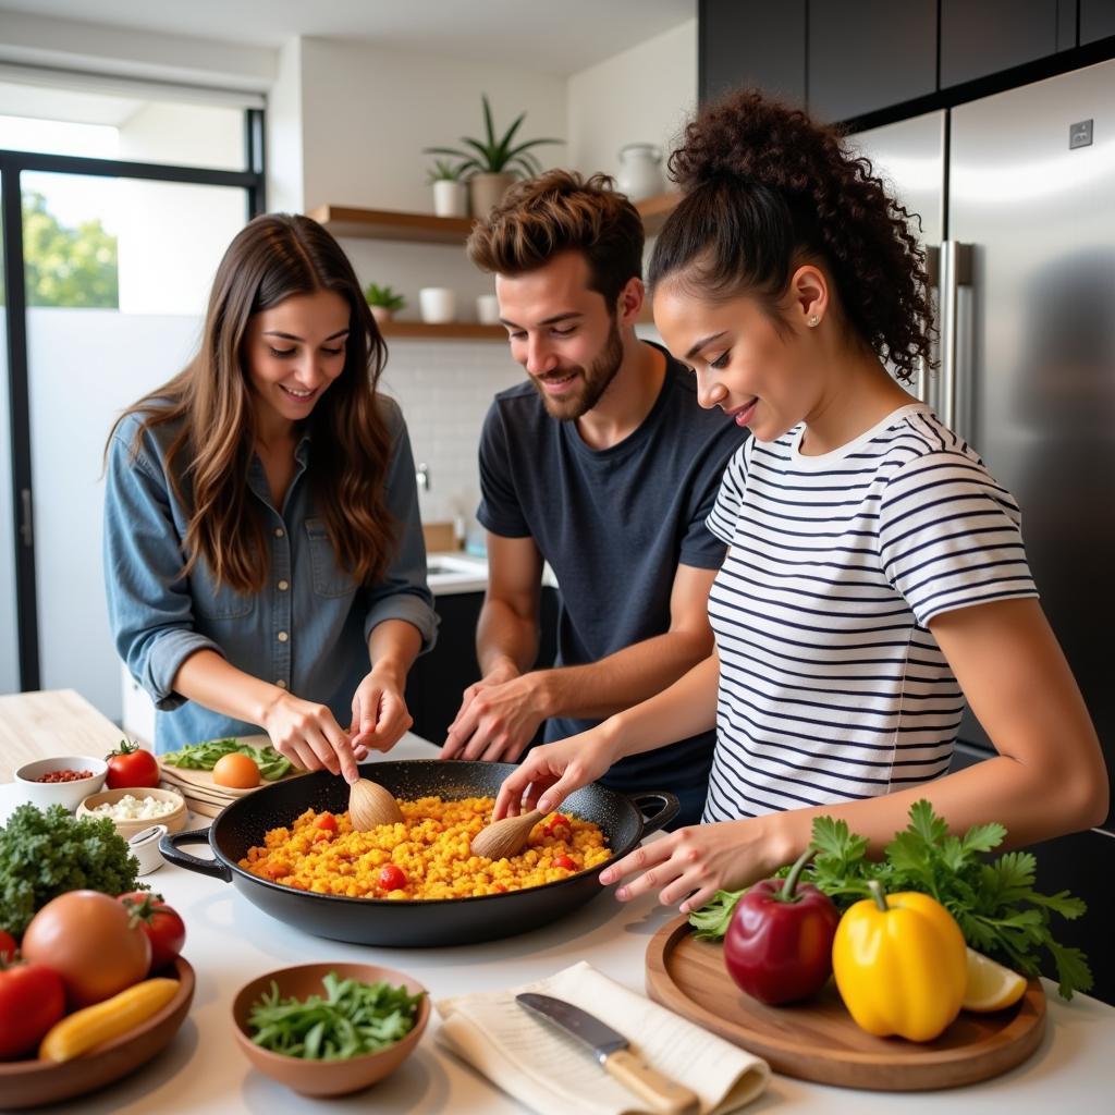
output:
[[[514,763],[545,717],[539,676],[504,660],[465,690],[439,757]]]

